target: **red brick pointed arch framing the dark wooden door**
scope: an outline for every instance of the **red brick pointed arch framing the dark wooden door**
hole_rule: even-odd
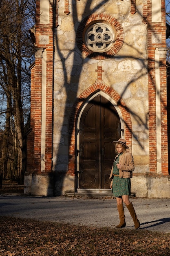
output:
[[[121,99],[119,94],[109,86],[105,85],[104,83],[95,83],[91,85],[89,88],[87,88],[80,96],[77,98],[75,101],[75,104],[73,105],[71,116],[70,116],[70,121],[69,121],[69,150],[68,150],[68,174],[74,175],[75,174],[75,165],[76,165],[76,129],[75,129],[75,124],[76,124],[76,118],[77,118],[77,113],[79,110],[82,108],[83,104],[86,102],[87,98],[90,97],[91,94],[101,91],[110,96],[116,103],[117,106],[119,107],[121,111],[121,115],[124,120],[124,133],[125,133],[125,139],[127,141],[127,144],[129,145],[129,148],[131,148],[132,144],[132,122],[130,118],[130,113],[129,110],[124,103],[124,101]]]

